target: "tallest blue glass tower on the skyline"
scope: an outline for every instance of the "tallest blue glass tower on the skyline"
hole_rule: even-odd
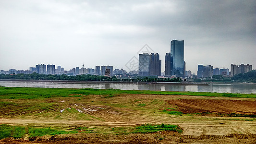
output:
[[[171,57],[172,57],[172,75],[177,77],[185,76],[184,65],[184,40],[172,40],[171,41]]]

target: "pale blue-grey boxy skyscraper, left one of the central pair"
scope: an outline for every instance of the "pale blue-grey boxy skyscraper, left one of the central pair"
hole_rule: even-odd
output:
[[[149,76],[149,54],[139,54],[139,76]]]

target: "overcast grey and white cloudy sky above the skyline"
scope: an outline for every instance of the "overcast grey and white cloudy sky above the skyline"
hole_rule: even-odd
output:
[[[160,55],[164,72],[173,39],[184,40],[187,71],[256,69],[256,1],[0,0],[0,70],[84,63],[129,71],[148,51]]]

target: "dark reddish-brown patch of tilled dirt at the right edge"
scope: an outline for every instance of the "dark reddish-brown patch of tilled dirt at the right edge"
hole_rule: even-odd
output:
[[[167,100],[171,105],[178,108],[177,111],[183,113],[237,113],[237,114],[256,114],[256,102],[249,100],[231,99],[178,99]]]

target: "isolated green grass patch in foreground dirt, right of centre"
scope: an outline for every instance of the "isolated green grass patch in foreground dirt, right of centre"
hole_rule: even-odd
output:
[[[182,129],[177,125],[171,124],[142,124],[141,126],[135,127],[132,133],[150,133],[158,131],[173,131],[182,133]]]

